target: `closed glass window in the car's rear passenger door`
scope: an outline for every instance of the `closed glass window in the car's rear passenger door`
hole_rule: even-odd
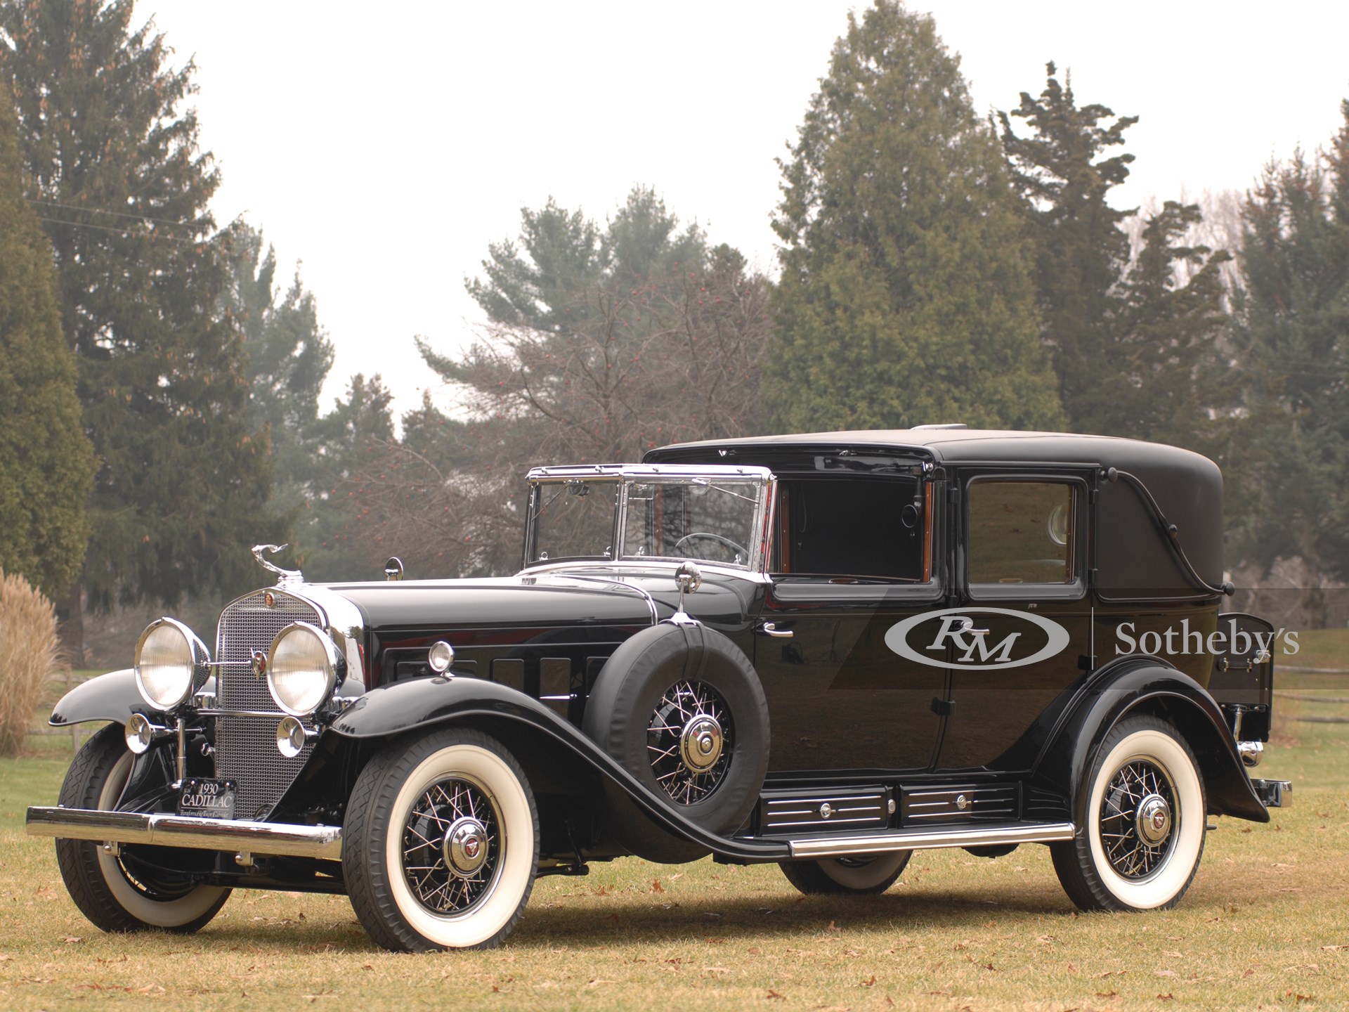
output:
[[[1066,482],[970,482],[969,582],[1072,583],[1074,499],[1075,487]]]

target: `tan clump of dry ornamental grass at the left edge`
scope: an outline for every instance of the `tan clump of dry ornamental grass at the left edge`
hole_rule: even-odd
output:
[[[15,756],[59,661],[57,610],[22,576],[0,571],[0,756]]]

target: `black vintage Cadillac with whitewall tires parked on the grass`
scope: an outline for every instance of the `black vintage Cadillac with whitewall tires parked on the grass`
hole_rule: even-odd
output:
[[[27,818],[104,930],[295,889],[389,949],[483,947],[590,861],[876,893],[916,849],[1023,843],[1083,909],[1163,908],[1210,815],[1291,799],[1246,773],[1275,633],[1219,614],[1222,482],[1171,447],[674,445],[532,471],[511,578],[277,572],[214,652],[159,619],[51,716],[112,722]]]

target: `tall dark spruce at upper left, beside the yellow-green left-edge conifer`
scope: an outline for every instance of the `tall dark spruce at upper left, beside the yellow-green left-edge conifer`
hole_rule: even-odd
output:
[[[171,69],[152,23],[131,20],[131,0],[0,0],[0,80],[101,464],[82,575],[96,606],[237,586],[247,546],[275,533],[267,440],[247,428],[241,341],[219,312],[228,264],[206,209],[219,174],[183,108],[193,66]]]

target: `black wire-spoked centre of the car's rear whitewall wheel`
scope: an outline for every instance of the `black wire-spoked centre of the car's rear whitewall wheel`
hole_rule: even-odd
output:
[[[1175,839],[1175,787],[1166,769],[1137,758],[1116,770],[1101,800],[1101,843],[1110,866],[1143,881],[1166,862]]]

